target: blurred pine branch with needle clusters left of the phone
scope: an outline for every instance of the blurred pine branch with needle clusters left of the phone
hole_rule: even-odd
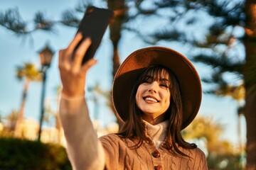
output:
[[[35,13],[33,18],[33,28],[29,28],[30,22],[23,21],[18,8],[9,8],[4,12],[0,11],[0,26],[3,26],[7,30],[11,30],[20,35],[31,35],[38,30],[46,30],[46,32],[55,33],[55,26],[58,23],[62,23],[64,26],[78,27],[81,18],[77,16],[77,13],[84,13],[88,4],[83,4],[75,9],[68,9],[62,13],[61,20],[56,21],[54,18],[47,17],[42,11]]]

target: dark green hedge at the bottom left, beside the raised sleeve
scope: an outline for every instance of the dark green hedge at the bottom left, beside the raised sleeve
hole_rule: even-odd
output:
[[[15,138],[0,138],[0,169],[71,169],[65,148]]]

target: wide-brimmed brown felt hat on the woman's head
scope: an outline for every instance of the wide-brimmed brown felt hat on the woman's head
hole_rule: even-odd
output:
[[[201,105],[201,81],[193,64],[179,52],[166,47],[146,47],[132,52],[117,70],[112,89],[114,107],[122,120],[129,118],[129,98],[134,83],[146,67],[162,65],[178,79],[183,103],[182,129],[196,117]]]

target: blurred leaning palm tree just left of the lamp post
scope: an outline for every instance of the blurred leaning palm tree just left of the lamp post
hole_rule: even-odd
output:
[[[18,80],[23,80],[23,79],[25,80],[24,80],[24,86],[23,86],[23,94],[21,98],[21,106],[18,109],[18,116],[14,124],[15,132],[17,132],[18,126],[23,120],[25,103],[26,103],[26,98],[28,94],[28,86],[31,83],[31,81],[41,81],[41,73],[38,69],[36,69],[34,64],[26,62],[22,66],[17,67],[16,77],[18,78]]]

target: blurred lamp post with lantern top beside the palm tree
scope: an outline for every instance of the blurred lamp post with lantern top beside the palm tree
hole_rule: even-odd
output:
[[[40,124],[39,124],[39,130],[38,130],[38,141],[41,140],[41,132],[42,132],[42,125],[43,125],[43,115],[44,115],[44,98],[46,94],[46,71],[50,67],[50,62],[53,58],[53,50],[50,49],[48,45],[43,48],[43,50],[39,51],[39,57],[41,60],[41,72],[42,72],[42,80],[43,80],[43,86],[42,86],[42,96],[41,96],[41,115],[40,115]]]

